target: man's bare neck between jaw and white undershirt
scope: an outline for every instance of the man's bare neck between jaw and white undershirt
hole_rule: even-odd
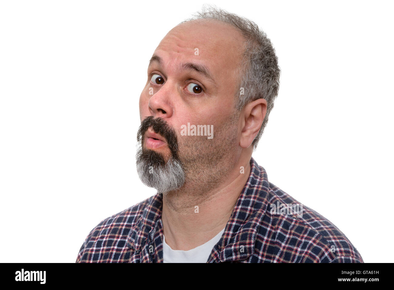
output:
[[[242,152],[238,162],[212,189],[201,192],[200,184],[192,181],[163,195],[163,231],[171,249],[194,249],[223,230],[249,178],[250,159],[251,152]]]

